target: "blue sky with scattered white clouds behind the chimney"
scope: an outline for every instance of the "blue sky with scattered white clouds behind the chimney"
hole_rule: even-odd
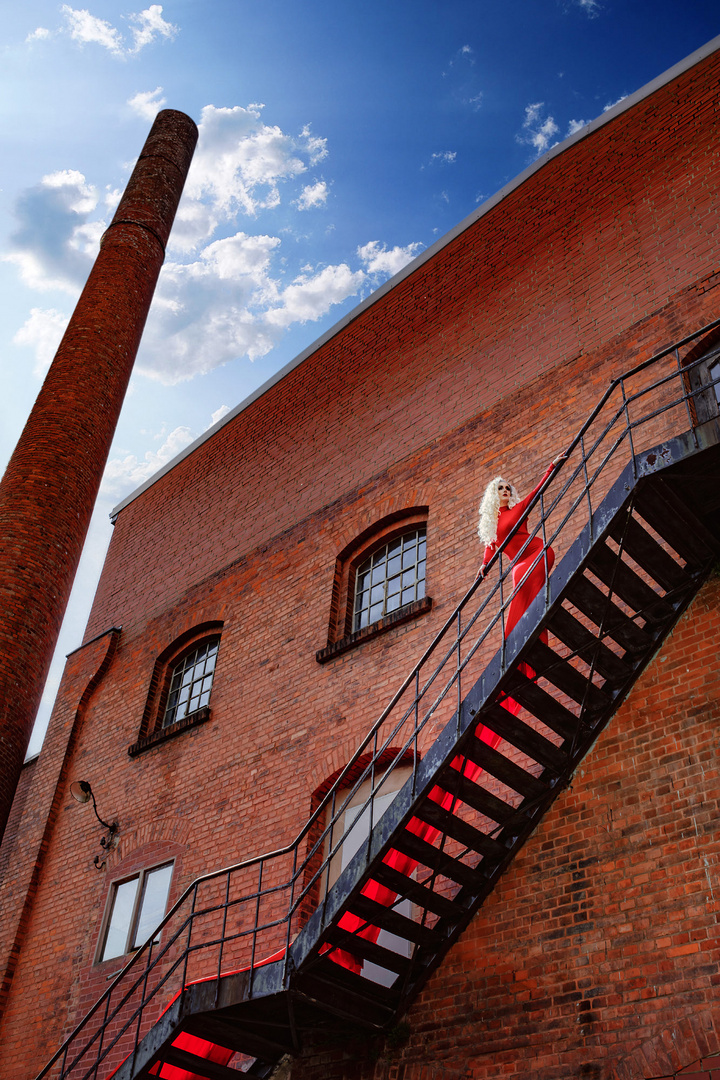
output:
[[[81,640],[114,504],[545,150],[719,32],[710,0],[5,5],[3,464],[154,112],[201,130],[58,653]]]

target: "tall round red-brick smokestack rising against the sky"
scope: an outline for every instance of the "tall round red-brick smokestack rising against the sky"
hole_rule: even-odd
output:
[[[196,141],[158,114],[0,484],[0,837]]]

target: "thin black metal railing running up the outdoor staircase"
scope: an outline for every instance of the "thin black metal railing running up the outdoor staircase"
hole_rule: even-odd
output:
[[[525,550],[528,544],[534,539],[539,530],[542,530],[543,536],[543,550],[536,556],[533,565],[527,571],[527,573],[532,573],[534,567],[541,559],[547,558],[547,548],[557,540],[557,538],[562,534],[568,523],[573,517],[573,514],[578,510],[581,502],[587,502],[587,516],[588,521],[593,523],[593,502],[592,502],[592,491],[594,486],[599,482],[599,477],[604,473],[609,462],[613,460],[619,449],[624,445],[627,440],[631,444],[633,433],[643,423],[648,423],[656,417],[661,416],[663,413],[667,413],[679,405],[684,404],[688,410],[688,415],[692,420],[692,405],[698,394],[707,391],[709,387],[714,387],[718,381],[706,382],[699,388],[691,389],[688,386],[688,374],[692,372],[695,367],[703,363],[704,357],[698,357],[687,366],[682,366],[680,363],[680,350],[693,341],[702,338],[704,335],[710,333],[715,328],[720,326],[720,319],[703,326],[701,329],[685,336],[680,341],[674,342],[667,346],[657,353],[654,353],[649,359],[637,364],[630,370],[623,373],[622,375],[615,377],[611,380],[604,393],[600,396],[600,400],[595,405],[587,419],[584,421],[575,436],[572,438],[567,447],[565,459],[561,463],[553,470],[553,472],[545,478],[539,490],[535,492],[534,497],[530,501],[526,512],[524,513],[521,519],[516,524],[515,528],[510,532],[505,540],[500,543],[493,553],[492,557],[486,566],[486,572],[484,577],[478,577],[467,589],[465,594],[462,596],[460,602],[457,604],[453,611],[445,620],[440,630],[435,634],[430,645],[423,651],[420,660],[416,663],[412,671],[403,680],[400,687],[393,694],[390,702],[382,710],[379,718],[369,729],[368,733],[362,741],[355,754],[348,761],[344,768],[340,771],[336,778],[334,784],[326,792],[325,796],[321,799],[318,806],[315,808],[314,812],[308,819],[305,824],[302,826],[296,838],[282,848],[276,848],[273,851],[264,852],[260,855],[255,855],[250,859],[243,860],[237,863],[233,863],[230,866],[226,866],[218,870],[213,870],[209,874],[202,875],[196,878],[188,888],[182,892],[179,899],[173,904],[171,909],[165,915],[164,919],[153,932],[152,936],[133,955],[128,963],[118,973],[110,986],[100,996],[98,1001],[93,1005],[93,1008],[87,1012],[87,1014],[80,1021],[72,1032],[65,1040],[63,1045],[58,1049],[57,1053],[53,1055],[47,1065],[38,1075],[37,1080],[42,1080],[46,1077],[54,1065],[63,1058],[60,1077],[69,1077],[72,1070],[82,1058],[87,1054],[91,1049],[95,1045],[96,1040],[100,1040],[98,1049],[96,1051],[95,1062],[91,1065],[87,1070],[83,1074],[83,1078],[97,1077],[97,1070],[103,1062],[107,1061],[111,1051],[119,1043],[119,1041],[126,1035],[126,1032],[132,1028],[135,1023],[137,1027],[137,1034],[135,1039],[135,1044],[140,1037],[141,1024],[146,1021],[146,1011],[150,1002],[157,1000],[160,990],[167,984],[171,976],[178,970],[180,966],[184,966],[184,978],[182,985],[186,983],[187,966],[188,959],[191,954],[202,951],[220,945],[220,954],[218,959],[217,974],[220,974],[220,963],[222,961],[222,947],[226,943],[230,941],[236,941],[241,937],[246,937],[252,935],[252,949],[250,949],[250,977],[253,977],[256,960],[256,946],[258,942],[258,935],[261,931],[271,930],[277,926],[287,923],[286,933],[284,935],[285,941],[285,976],[287,976],[287,966],[288,966],[288,951],[287,945],[290,941],[290,929],[291,921],[296,917],[297,913],[301,909],[303,903],[305,903],[309,897],[312,896],[313,890],[320,888],[323,876],[325,876],[325,896],[328,891],[328,877],[329,877],[329,865],[332,859],[335,859],[340,851],[344,839],[347,837],[348,831],[344,832],[338,827],[344,811],[359,789],[361,785],[366,782],[367,778],[371,778],[371,789],[370,794],[367,796],[365,802],[361,808],[363,810],[372,808],[372,802],[377,798],[380,789],[385,785],[388,778],[392,774],[394,768],[402,767],[407,760],[407,752],[412,750],[413,752],[413,778],[416,774],[417,762],[419,760],[418,753],[418,737],[420,732],[424,731],[427,727],[430,720],[439,710],[441,703],[444,702],[447,694],[453,688],[457,683],[458,686],[458,700],[460,701],[460,679],[462,673],[465,671],[471,660],[476,656],[478,649],[488,639],[488,636],[495,632],[498,629],[502,631],[502,644],[503,644],[503,664],[504,664],[504,619],[505,611],[508,604],[512,600],[513,590],[503,590],[503,585],[511,573],[512,564],[503,569],[502,561],[503,554],[507,550],[508,545],[517,536],[518,530],[521,528],[522,524],[527,522],[529,515],[532,513],[533,509],[541,503],[541,521],[532,534],[529,535],[528,540],[524,544]],[[652,368],[653,366],[660,364],[663,360],[675,353],[677,361],[677,367],[667,375],[662,375],[658,379],[651,382],[649,386],[644,386],[629,395],[626,393],[626,386],[638,375]],[[663,389],[666,386],[673,383],[673,381],[679,381],[681,393],[679,396],[674,397],[670,402],[664,402],[658,408],[652,409],[650,413],[642,415],[636,420],[630,419],[630,408],[637,402],[640,402],[647,395],[656,392],[658,389]],[[604,426],[599,433],[596,433],[589,440],[586,441],[587,436],[590,434],[590,429],[596,420],[601,416],[602,410],[606,405],[611,401],[617,391],[621,391],[622,400],[619,402],[617,407],[611,414],[610,419],[606,420]],[[613,433],[613,429],[622,423],[622,430],[617,433]],[[604,456],[600,458],[599,462],[595,461],[588,469],[590,459],[593,459],[596,453],[600,451],[606,441],[611,438],[611,445]],[[589,442],[589,448],[587,446]],[[572,454],[580,447],[581,459],[580,462],[573,468],[569,467],[569,459]],[[563,473],[565,481],[561,483],[559,490],[556,495],[545,502],[545,494],[551,486],[551,484],[557,478],[557,476]],[[581,481],[581,491],[571,501],[570,509],[566,508],[559,524],[555,526],[554,529],[548,530],[547,525],[553,514],[560,509],[562,500],[566,498],[572,485],[576,483],[580,478]],[[519,556],[516,556],[519,557]],[[489,595],[484,599],[478,609],[468,618],[466,625],[462,626],[463,612],[470,605],[471,600],[477,593],[480,583],[487,581],[490,573],[498,572],[498,581],[491,589]],[[527,577],[527,575],[526,575]],[[491,603],[497,599],[498,594],[500,594],[500,608],[499,610],[491,615],[488,621],[484,625],[484,630],[480,636],[468,646],[467,654],[462,659],[462,647],[466,644],[471,631],[478,624],[480,617],[487,612]],[[547,596],[547,593],[546,593]],[[500,623],[500,626],[499,626]],[[457,631],[453,631],[453,626],[457,625]],[[424,669],[427,665],[432,657],[440,648],[440,645],[447,639],[447,648],[444,653],[440,654],[439,662],[435,665],[434,670],[426,675]],[[453,658],[454,659],[451,659]],[[439,677],[446,665],[451,665],[451,674],[447,681],[439,686]],[[421,685],[421,673],[423,673],[423,679]],[[403,701],[406,692],[410,689],[415,683],[415,693],[411,696],[411,700],[403,715],[399,719],[394,723],[394,727],[389,732],[382,733],[382,729],[391,717],[393,712],[396,710],[397,705]],[[437,684],[437,691],[433,688]],[[431,702],[430,706],[425,707],[426,696],[435,693],[434,700]],[[424,714],[421,715],[420,702],[423,702]],[[409,734],[400,738],[400,744],[396,744],[398,734],[400,734],[406,727],[406,723],[410,716],[415,715],[415,719],[410,725]],[[368,747],[372,744],[372,753],[369,756],[369,761],[361,769],[359,775],[354,775],[357,771],[358,762],[362,761],[364,757],[368,755]],[[391,754],[391,762],[388,765],[388,754]],[[380,761],[382,760],[382,766]],[[377,771],[376,771],[377,770]],[[354,775],[352,783],[349,781],[349,777]],[[328,820],[329,819],[329,820]],[[322,827],[324,826],[324,827]],[[304,858],[300,859],[299,853],[301,846],[305,838],[309,836],[313,828],[317,829],[321,827],[317,836],[314,837],[313,843],[310,845],[309,851],[305,853]],[[340,833],[339,838],[335,834]],[[324,858],[320,860],[320,865],[314,866],[318,860],[318,854],[322,853],[323,848],[326,849]],[[293,869],[285,880],[280,883],[266,886],[262,885],[262,877],[264,868],[276,860],[281,860],[287,855],[294,855]],[[230,881],[232,878],[236,877],[241,873],[247,873],[254,867],[257,867],[258,873],[258,887],[255,891],[244,894],[237,899],[230,899]],[[209,885],[213,881],[217,881],[221,878],[226,878],[226,889],[225,889],[225,901],[210,906],[196,907],[198,897],[204,886]],[[304,883],[303,883],[304,881]],[[299,888],[298,888],[299,883]],[[271,919],[269,922],[262,922],[259,917],[261,901],[270,895],[279,894],[282,892],[289,893],[289,902],[281,916]],[[188,904],[188,901],[192,897],[192,909],[190,913],[182,916],[180,914],[179,926],[168,940],[161,945],[157,946],[158,939],[166,928],[169,927],[171,922],[181,913],[182,908]],[[227,932],[227,914],[230,908],[239,907],[242,904],[247,904],[255,902],[256,906],[256,917],[255,922],[248,929],[243,931],[235,931],[233,933]],[[222,931],[219,937],[212,936],[209,940],[205,939],[198,944],[191,943],[192,930],[195,923],[201,919],[214,915],[217,912],[222,912]],[[188,944],[180,951],[180,954],[173,960],[172,954],[174,946],[180,941],[181,936],[187,932]],[[133,978],[133,975],[137,970],[141,961],[145,960],[145,967],[137,977],[135,977],[132,985],[127,987],[125,984],[128,980]],[[160,981],[150,990],[148,990],[149,976],[153,972],[160,972],[163,961],[172,961],[169,969],[162,974]],[[132,998],[138,991],[138,988],[142,986],[140,994],[139,1003],[132,1005],[131,1016],[120,1025],[119,1034],[116,1034],[112,1040],[104,1039],[104,1034],[106,1027],[114,1022],[132,1002]],[[114,1004],[113,1009],[110,1011],[109,1004],[113,995],[117,990],[120,990],[120,1000]],[[72,1055],[70,1048],[74,1042],[77,1042],[85,1029],[89,1029],[89,1025],[93,1021],[93,1017],[97,1015],[99,1010],[105,1007],[105,1017],[101,1026],[97,1028],[92,1035],[89,1035],[87,1042],[78,1048],[74,1056]],[[83,1068],[85,1066],[82,1066]]]

